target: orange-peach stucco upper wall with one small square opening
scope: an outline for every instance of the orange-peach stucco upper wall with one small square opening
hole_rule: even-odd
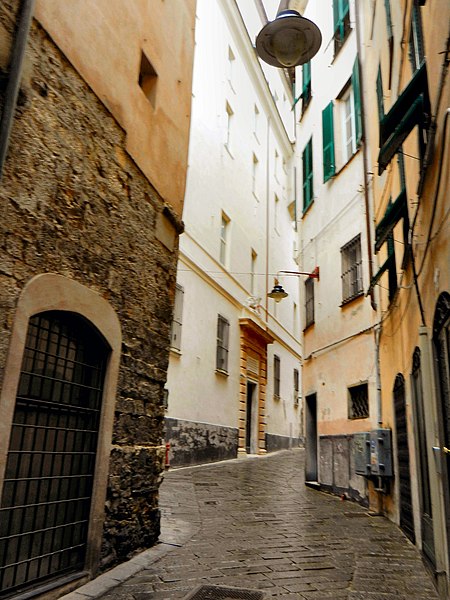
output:
[[[36,3],[39,22],[123,127],[127,151],[180,216],[187,165],[195,1]],[[157,73],[155,106],[139,86],[141,51]]]

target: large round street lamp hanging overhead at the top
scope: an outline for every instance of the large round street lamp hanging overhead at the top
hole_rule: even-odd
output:
[[[276,19],[266,23],[256,37],[258,56],[273,67],[303,65],[317,54],[322,43],[320,29],[291,7],[295,4],[294,0],[282,0]]]

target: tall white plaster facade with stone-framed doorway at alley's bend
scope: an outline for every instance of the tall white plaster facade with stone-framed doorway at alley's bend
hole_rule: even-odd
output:
[[[248,30],[259,31],[254,2],[239,4],[246,7],[242,16]],[[234,0],[199,0],[196,23],[185,233],[178,268],[178,283],[184,287],[182,341],[181,353],[170,358],[167,415],[237,427],[238,321],[250,316],[276,340],[268,348],[267,432],[298,436],[301,411],[293,399],[293,369],[300,369],[301,355],[298,277],[280,278],[289,296],[279,305],[267,298],[277,271],[297,270],[296,234],[288,211],[295,199],[292,96],[278,69],[267,71],[269,88]],[[231,71],[229,48],[235,57]],[[233,110],[228,147],[227,103]],[[230,219],[226,266],[219,260],[222,212]],[[252,250],[257,253],[254,295],[261,299],[257,311],[248,308]],[[228,376],[215,372],[218,313],[230,321]],[[276,402],[274,352],[282,368],[282,398]]]

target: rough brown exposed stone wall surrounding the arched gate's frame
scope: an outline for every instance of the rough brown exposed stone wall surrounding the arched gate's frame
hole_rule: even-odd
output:
[[[15,9],[12,0],[1,4],[2,40],[12,35]],[[3,73],[7,55],[0,52]],[[159,535],[177,236],[172,249],[157,238],[170,210],[124,151],[122,129],[36,22],[19,100],[0,186],[0,386],[17,298],[33,276],[74,279],[117,312],[123,347],[105,568]]]

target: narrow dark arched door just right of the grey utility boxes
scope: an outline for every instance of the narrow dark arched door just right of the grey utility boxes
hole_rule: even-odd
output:
[[[411,472],[409,467],[408,428],[406,421],[405,379],[398,374],[394,384],[395,428],[397,431],[398,479],[400,491],[400,527],[415,543]]]

